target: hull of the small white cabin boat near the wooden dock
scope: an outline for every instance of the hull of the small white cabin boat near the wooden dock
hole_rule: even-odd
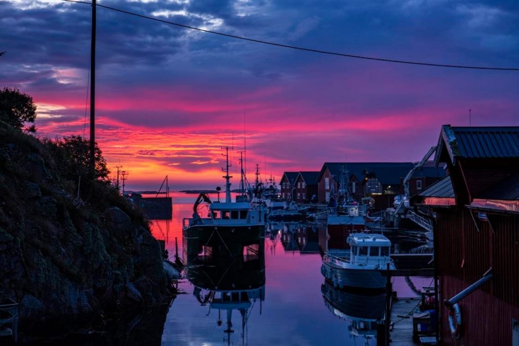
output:
[[[321,268],[323,276],[330,280],[334,286],[384,289],[386,277],[375,269],[349,269],[337,268],[323,262]]]

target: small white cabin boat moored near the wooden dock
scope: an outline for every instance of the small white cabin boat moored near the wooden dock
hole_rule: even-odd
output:
[[[391,242],[383,234],[354,233],[347,238],[347,251],[329,251],[323,256],[321,273],[335,287],[381,289],[386,277],[380,271],[395,269]]]

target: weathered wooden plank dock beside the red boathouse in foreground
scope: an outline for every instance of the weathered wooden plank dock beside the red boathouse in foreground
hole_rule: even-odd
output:
[[[413,313],[421,298],[395,298],[391,305],[390,339],[392,346],[419,345],[413,341]]]

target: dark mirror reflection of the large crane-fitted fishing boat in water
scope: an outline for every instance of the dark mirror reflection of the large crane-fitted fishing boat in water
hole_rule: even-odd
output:
[[[196,240],[184,239],[186,250],[197,246],[189,246]],[[240,244],[228,244],[230,248],[238,248]],[[210,247],[202,247],[200,253],[184,252],[186,276],[193,284],[193,295],[200,306],[209,306],[207,316],[216,318],[218,327],[225,333],[223,340],[227,344],[234,343],[231,337],[235,330],[241,329],[242,344],[247,344],[247,322],[255,305],[262,313],[262,302],[265,300],[265,239],[259,238],[254,244],[242,246],[241,253],[233,256],[213,253]],[[241,325],[233,324],[233,312],[240,315]],[[236,320],[235,320],[236,321]],[[236,328],[236,329],[235,329]]]

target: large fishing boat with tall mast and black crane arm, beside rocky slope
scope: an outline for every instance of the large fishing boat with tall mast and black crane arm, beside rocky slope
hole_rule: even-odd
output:
[[[257,241],[264,236],[265,216],[262,206],[249,201],[233,202],[230,194],[229,148],[226,147],[225,201],[211,201],[204,193],[200,193],[193,205],[193,217],[182,221],[182,235],[186,239],[196,239],[203,246],[224,246],[228,252],[234,250],[227,245],[231,241],[241,246]],[[201,205],[204,202],[205,205]],[[207,207],[207,217],[202,217],[203,208]],[[239,252],[240,248],[236,248]]]

